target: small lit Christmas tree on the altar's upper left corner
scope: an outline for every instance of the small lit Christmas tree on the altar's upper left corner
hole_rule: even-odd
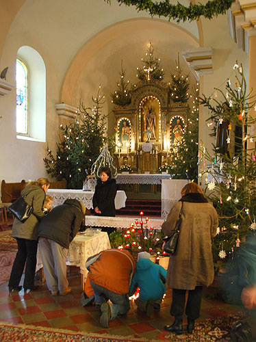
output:
[[[123,61],[121,62],[121,72],[119,73],[119,75],[120,81],[116,83],[118,88],[113,94],[110,94],[112,103],[120,106],[129,105],[129,103],[131,103],[131,95],[129,94],[128,90],[129,81],[125,81],[125,70],[123,69]]]

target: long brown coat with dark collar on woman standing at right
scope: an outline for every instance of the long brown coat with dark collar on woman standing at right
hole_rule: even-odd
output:
[[[218,214],[203,194],[189,193],[181,198],[162,224],[162,232],[170,235],[181,211],[177,250],[170,255],[166,282],[172,289],[194,290],[209,286],[214,280],[212,239],[217,233]]]

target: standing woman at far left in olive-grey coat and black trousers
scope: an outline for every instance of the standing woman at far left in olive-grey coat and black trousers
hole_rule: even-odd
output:
[[[21,192],[21,196],[25,196],[25,202],[33,207],[33,212],[25,222],[14,218],[12,225],[12,236],[16,238],[18,244],[18,252],[12,265],[12,272],[9,279],[9,291],[20,291],[19,286],[21,276],[25,267],[25,277],[23,287],[34,290],[34,277],[36,271],[36,252],[38,249],[38,223],[44,218],[43,211],[44,199],[49,181],[40,178],[35,182],[30,182]]]

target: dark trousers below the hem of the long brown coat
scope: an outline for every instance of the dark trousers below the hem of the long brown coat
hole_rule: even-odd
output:
[[[185,292],[187,290],[172,289],[172,305],[170,315],[182,319],[185,306]],[[196,286],[194,290],[188,290],[188,301],[185,306],[185,314],[188,319],[196,319],[200,316],[203,287]]]

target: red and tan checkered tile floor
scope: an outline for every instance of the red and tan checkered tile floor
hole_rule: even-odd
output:
[[[8,293],[7,283],[0,286],[0,320],[14,324],[32,324],[36,326],[64,328],[74,331],[98,332],[118,335],[132,335],[146,339],[164,339],[163,327],[170,324],[171,291],[161,304],[161,311],[153,317],[146,317],[137,311],[136,304],[131,300],[131,310],[123,317],[110,322],[110,328],[103,329],[99,324],[100,313],[94,306],[83,308],[80,304],[81,284],[79,269],[70,267],[68,280],[72,292],[68,295],[52,296],[46,285],[41,285],[38,291]],[[207,299],[207,293],[216,289],[204,290],[200,319],[218,317],[240,310],[220,300]],[[185,323],[185,318],[184,318]]]

